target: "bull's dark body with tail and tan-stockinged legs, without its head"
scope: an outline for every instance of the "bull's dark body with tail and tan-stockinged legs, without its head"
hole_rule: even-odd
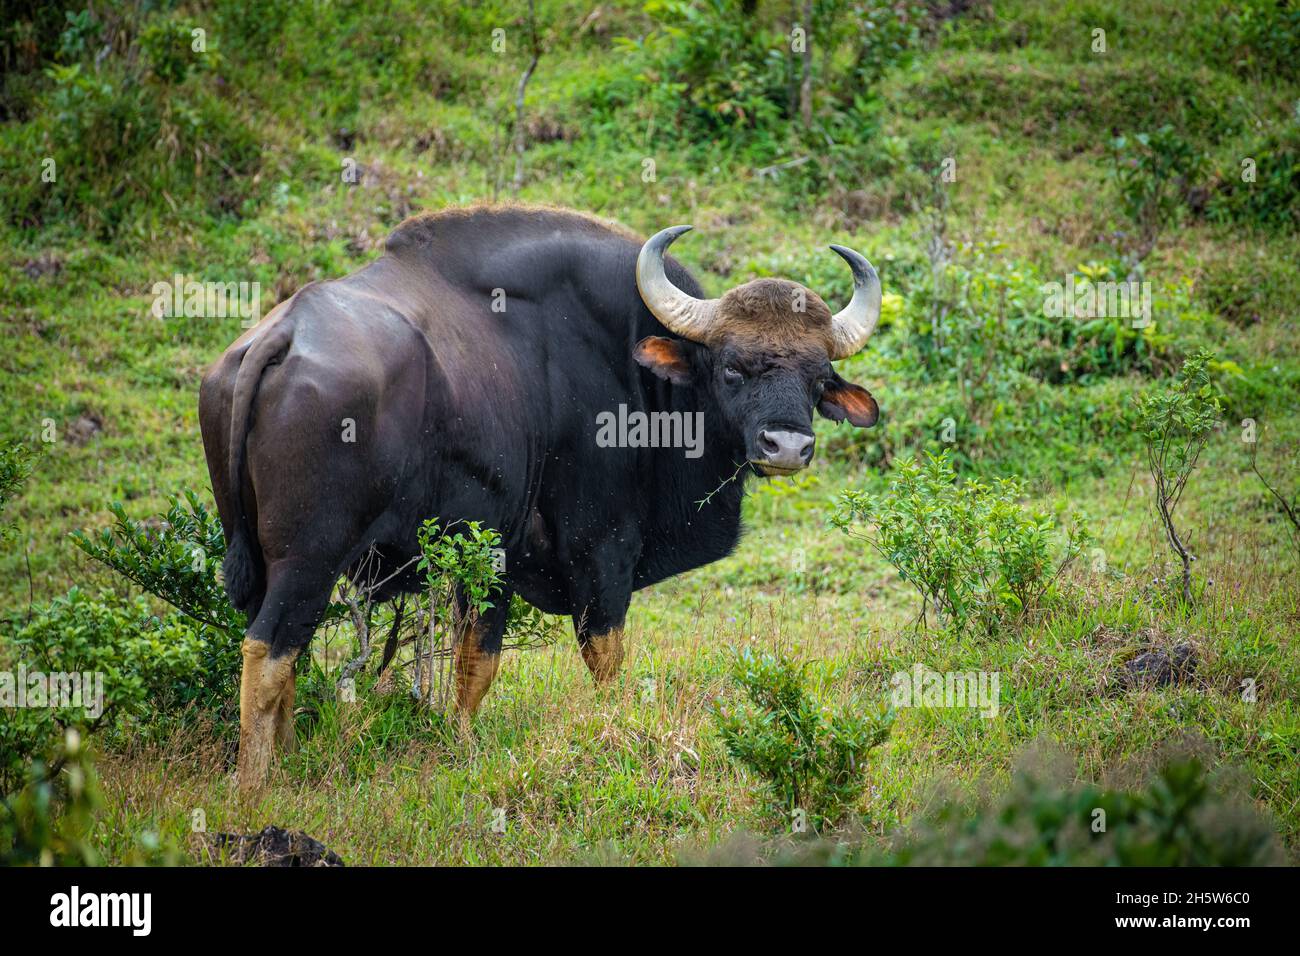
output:
[[[464,715],[495,674],[511,593],[573,615],[582,657],[604,680],[621,661],[632,592],[734,548],[751,436],[714,389],[634,356],[647,337],[670,336],[638,295],[638,250],[559,211],[411,220],[381,259],[306,286],[209,369],[199,415],[225,580],[251,622],[243,786],[265,777],[273,743],[292,741],[294,659],[334,583],[372,548],[386,571],[406,564],[424,519],[477,520],[502,536],[506,592],[456,649]],[[667,274],[702,294],[672,260]],[[708,350],[692,345],[677,360],[698,371]],[[828,373],[831,388],[855,389]],[[597,416],[619,406],[702,412],[698,457],[598,445]],[[810,424],[790,425],[807,432],[807,457]],[[417,587],[408,568],[387,596]]]

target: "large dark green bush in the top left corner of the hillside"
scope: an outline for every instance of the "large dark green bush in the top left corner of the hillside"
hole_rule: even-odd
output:
[[[129,7],[69,14],[23,120],[0,127],[0,216],[121,238],[195,212],[238,213],[259,187],[261,140],[246,108],[209,82],[214,36],[195,52],[191,27]],[[95,40],[100,31],[112,42]]]

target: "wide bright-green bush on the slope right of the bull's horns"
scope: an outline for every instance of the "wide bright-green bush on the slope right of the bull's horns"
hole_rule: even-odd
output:
[[[1173,372],[1231,337],[1188,278],[1150,281],[1149,300],[1141,286],[1121,299],[1117,260],[1049,276],[1008,258],[996,237],[945,246],[933,256],[905,246],[888,261],[894,291],[871,354],[845,364],[846,375],[887,382],[881,418],[870,431],[823,429],[831,454],[887,470],[897,457],[946,449],[961,471],[1032,476],[1035,493],[1060,477],[1100,476],[1140,450],[1128,414],[1138,376]],[[846,294],[819,269],[786,271],[832,298]],[[1127,310],[1115,307],[1123,302]]]

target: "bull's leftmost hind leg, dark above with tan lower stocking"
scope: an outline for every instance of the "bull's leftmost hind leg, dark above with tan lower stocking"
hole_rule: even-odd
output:
[[[292,562],[272,564],[266,578],[266,597],[242,648],[235,775],[246,791],[265,783],[274,748],[294,743],[294,665],[311,643],[334,583]]]

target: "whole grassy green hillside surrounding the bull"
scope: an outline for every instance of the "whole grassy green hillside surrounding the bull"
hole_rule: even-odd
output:
[[[338,705],[321,675],[299,752],[251,805],[228,778],[229,728],[105,739],[107,858],[143,832],[185,845],[195,809],[211,829],[304,829],[348,862],[670,862],[772,831],[710,715],[745,646],[811,662],[828,705],[884,700],[914,662],[1001,675],[996,719],[898,713],[854,806],[868,842],[940,791],[1005,788],[1034,741],[1098,780],[1191,735],[1294,858],[1300,562],[1242,427],[1294,497],[1294,4],[816,4],[805,127],[789,4],[540,0],[517,191],[523,3],[65,7],[20,3],[0,34],[0,436],[36,453],[4,512],[8,635],[70,587],[127,589],[68,537],[107,524],[109,502],[146,518],[182,489],[211,499],[198,384],[242,329],[156,317],[152,289],[176,274],[256,281],[266,312],[370,261],[408,215],[519,200],[640,234],[694,222],[673,252],[711,294],[775,274],[842,302],[848,271],[826,248],[840,242],[888,297],[841,369],[880,424],[819,421],[815,467],[753,485],[734,555],[638,594],[615,689],[592,687],[566,631],[507,653],[459,739],[402,700]],[[1152,328],[1046,319],[1043,284],[1080,272],[1149,282]],[[1178,512],[1197,558],[1186,606],[1131,408],[1201,347],[1223,424]],[[1017,475],[1027,505],[1091,520],[1096,550],[1017,627],[915,627],[897,570],[828,523],[844,490],[880,492],[901,457],[945,449],[965,475]],[[1180,644],[1193,680],[1119,687],[1124,662]]]

